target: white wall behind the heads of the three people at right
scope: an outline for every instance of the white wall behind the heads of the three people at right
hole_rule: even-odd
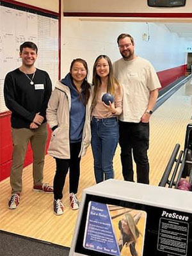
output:
[[[63,45],[61,77],[67,74],[74,58],[88,62],[90,80],[95,58],[106,54],[112,61],[120,58],[116,38],[120,33],[131,34],[136,43],[136,54],[151,61],[157,71],[184,65],[186,47],[184,38],[170,31],[163,24],[149,23],[148,42],[143,41],[143,33],[148,33],[146,22],[102,22],[81,21],[76,18],[63,19]]]

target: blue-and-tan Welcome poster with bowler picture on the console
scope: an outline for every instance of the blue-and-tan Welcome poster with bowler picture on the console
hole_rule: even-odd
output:
[[[83,247],[115,256],[143,256],[147,213],[90,201]]]

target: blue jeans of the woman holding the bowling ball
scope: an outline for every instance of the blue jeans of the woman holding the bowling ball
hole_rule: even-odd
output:
[[[116,117],[93,117],[91,127],[95,180],[99,183],[114,177],[113,156],[119,138],[118,121]]]

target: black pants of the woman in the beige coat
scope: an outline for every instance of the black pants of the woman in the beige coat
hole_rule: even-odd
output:
[[[77,193],[80,177],[80,160],[79,152],[81,142],[70,143],[70,159],[56,158],[56,173],[54,175],[54,199],[63,198],[63,187],[69,168],[69,193]]]

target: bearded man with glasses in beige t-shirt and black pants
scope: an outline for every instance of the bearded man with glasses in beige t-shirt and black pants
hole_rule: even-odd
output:
[[[156,70],[149,61],[134,54],[134,39],[121,34],[117,39],[122,58],[113,64],[114,74],[124,95],[119,117],[122,173],[133,180],[132,155],[136,162],[137,181],[149,184],[149,119],[161,88]]]

